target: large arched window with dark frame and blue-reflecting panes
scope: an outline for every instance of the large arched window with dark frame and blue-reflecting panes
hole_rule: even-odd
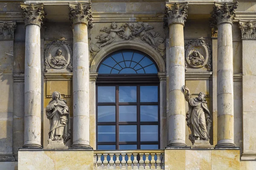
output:
[[[158,68],[147,54],[123,50],[98,67],[98,150],[160,148]]]

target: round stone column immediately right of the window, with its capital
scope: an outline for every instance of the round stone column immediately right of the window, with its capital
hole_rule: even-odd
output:
[[[183,27],[188,3],[166,3],[165,23],[169,26],[169,113],[167,146],[186,147],[185,56]]]

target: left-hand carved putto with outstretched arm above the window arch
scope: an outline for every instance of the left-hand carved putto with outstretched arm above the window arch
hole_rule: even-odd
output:
[[[99,41],[97,41],[98,43],[101,43],[101,45],[99,45],[99,48],[104,47],[105,45],[110,44],[111,42],[113,42],[113,40],[115,40],[116,34],[117,32],[120,31],[124,31],[123,28],[121,29],[116,29],[117,25],[115,22],[111,23],[111,29],[108,29],[106,27],[103,27],[100,31],[104,31],[109,33],[108,35],[99,35],[96,38],[99,39]]]

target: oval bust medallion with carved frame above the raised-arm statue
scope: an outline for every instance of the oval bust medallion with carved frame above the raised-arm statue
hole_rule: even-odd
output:
[[[210,46],[204,40],[190,40],[185,45],[185,53],[185,69],[189,65],[192,68],[206,66],[208,71],[212,70]]]

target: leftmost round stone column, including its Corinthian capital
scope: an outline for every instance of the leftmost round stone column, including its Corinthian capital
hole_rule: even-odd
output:
[[[40,28],[43,4],[20,3],[26,27],[24,74],[24,145],[41,145],[41,49]]]

